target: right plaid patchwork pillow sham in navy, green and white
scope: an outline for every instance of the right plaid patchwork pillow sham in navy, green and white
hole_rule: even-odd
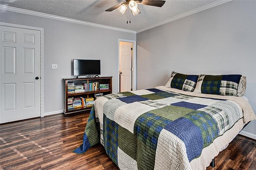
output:
[[[242,96],[245,93],[244,76],[242,75],[205,75],[198,77],[194,93],[204,93],[212,95]],[[246,79],[245,79],[246,81]],[[238,89],[238,87],[240,87]]]

